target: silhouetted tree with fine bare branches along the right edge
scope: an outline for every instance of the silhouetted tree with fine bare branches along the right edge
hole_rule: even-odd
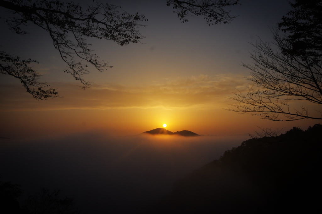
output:
[[[253,44],[254,65],[243,64],[252,71],[252,86],[234,93],[238,103],[229,110],[275,121],[322,119],[322,1],[290,5],[289,17],[279,23],[285,34],[274,32],[273,45]]]

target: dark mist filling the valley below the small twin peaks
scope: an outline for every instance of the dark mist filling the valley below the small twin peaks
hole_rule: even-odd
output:
[[[81,213],[135,213],[160,200],[175,181],[248,138],[111,136],[99,131],[55,139],[1,140],[2,181],[25,195],[42,187],[73,197]]]

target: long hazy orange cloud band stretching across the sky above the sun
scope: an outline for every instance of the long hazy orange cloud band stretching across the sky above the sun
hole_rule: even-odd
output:
[[[166,79],[161,84],[130,87],[119,84],[93,85],[80,90],[71,83],[55,83],[64,98],[36,101],[16,85],[0,87],[1,109],[110,109],[110,108],[213,108],[227,103],[234,88],[247,83],[242,76],[207,75]],[[23,105],[21,105],[23,103]]]

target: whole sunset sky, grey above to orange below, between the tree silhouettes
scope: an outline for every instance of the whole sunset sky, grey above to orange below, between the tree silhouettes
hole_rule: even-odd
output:
[[[85,2],[85,1],[84,1]],[[318,121],[272,122],[223,110],[235,88],[247,85],[252,63],[249,52],[260,37],[272,41],[271,29],[287,13],[287,1],[245,0],[233,6],[239,15],[231,24],[208,26],[203,18],[181,23],[166,0],[109,1],[148,18],[141,43],[119,46],[89,39],[100,59],[113,66],[103,73],[90,69],[94,82],[82,90],[70,75],[46,32],[28,26],[30,34],[16,35],[0,23],[1,49],[40,63],[42,73],[63,98],[37,101],[17,79],[0,78],[0,136],[55,136],[93,129],[134,135],[167,124],[170,131],[201,135],[242,135],[260,127],[301,126]],[[5,10],[0,10],[5,14]],[[2,20],[2,19],[1,19]]]

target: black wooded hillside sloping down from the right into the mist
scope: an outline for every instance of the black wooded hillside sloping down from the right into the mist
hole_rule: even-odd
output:
[[[320,212],[321,143],[320,124],[249,139],[177,181],[148,212]]]

